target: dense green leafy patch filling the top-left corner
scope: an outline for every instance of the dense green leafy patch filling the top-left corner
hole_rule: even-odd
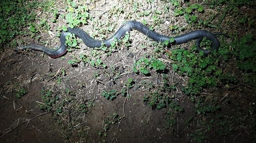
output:
[[[2,0],[0,3],[0,45],[2,47],[17,46],[15,37],[27,34],[34,37],[37,33],[38,25],[36,24],[35,9],[41,8],[42,11],[48,11],[51,2],[43,1],[9,1]],[[48,7],[48,8],[47,8]],[[28,9],[30,9],[28,11]],[[41,24],[47,27],[46,21]],[[28,27],[29,31],[24,30]],[[49,29],[49,27],[47,28]]]

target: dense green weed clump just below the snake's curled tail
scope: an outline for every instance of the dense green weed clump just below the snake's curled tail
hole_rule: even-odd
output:
[[[194,54],[192,50],[177,49],[171,52],[170,59],[174,60],[172,68],[181,74],[189,76],[189,84],[183,88],[185,94],[199,94],[202,88],[216,87],[228,80],[222,80],[224,72],[220,63],[225,62],[230,57],[230,52],[225,49],[213,52],[211,55],[204,57],[203,53]]]

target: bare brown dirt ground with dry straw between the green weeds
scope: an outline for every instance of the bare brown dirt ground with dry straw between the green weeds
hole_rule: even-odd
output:
[[[163,2],[142,3],[145,5],[141,9],[153,9],[159,5],[164,5]],[[95,24],[97,20],[101,20],[103,23],[107,21],[113,5],[121,4],[124,2],[95,1],[94,5],[97,9],[92,8],[90,14],[96,20],[90,21],[82,28],[87,29],[87,32],[92,34],[93,29],[95,30],[92,24]],[[92,5],[90,4],[89,7]],[[60,7],[62,6],[60,4]],[[126,11],[129,7],[123,6],[123,9]],[[136,17],[132,18],[139,20]],[[181,17],[176,18],[176,20],[168,19],[168,23],[172,21],[178,25],[184,23]],[[116,31],[122,22],[127,20],[127,17],[125,17],[125,13],[122,13],[120,16],[112,17],[111,20],[115,21],[110,25],[114,27],[113,31]],[[51,26],[54,27],[58,24],[61,25],[62,22]],[[97,26],[104,25],[99,24]],[[166,27],[168,29],[168,24],[164,23],[157,27],[161,30],[157,29],[156,31],[165,35],[172,35],[172,32],[166,30]],[[248,31],[250,30],[245,29],[241,33]],[[56,33],[54,31],[54,34]],[[99,33],[100,31],[97,31],[96,35]],[[113,33],[108,32],[106,35],[110,36]],[[42,34],[47,35],[48,33],[43,31]],[[18,38],[23,39],[25,43],[31,43],[33,40],[29,36]],[[232,40],[232,38],[228,40]],[[49,36],[49,34],[42,36],[42,41],[49,41],[52,47],[59,44],[59,38]],[[50,58],[42,52],[16,52],[13,49],[1,51],[0,142],[255,142],[253,140],[256,127],[255,113],[250,114],[249,112],[251,108],[255,108],[256,100],[255,91],[252,87],[245,85],[242,81],[239,83],[239,81],[235,85],[230,85],[230,88],[220,85],[219,87],[204,89],[199,97],[188,96],[182,92],[182,87],[187,84],[188,77],[174,72],[172,63],[166,55],[163,55],[162,59],[166,62],[166,69],[168,69],[164,72],[170,82],[177,83],[176,90],[172,91],[171,94],[175,95],[175,103],[184,109],[184,112],[173,113],[175,116],[170,118],[175,117],[176,123],[166,128],[168,107],[153,109],[143,100],[145,94],[151,92],[146,86],[147,83],[153,83],[156,88],[163,86],[163,73],[152,70],[150,75],[144,75],[132,71],[135,60],[142,58],[145,53],[153,51],[153,49],[145,48],[153,42],[138,31],[130,32],[130,41],[131,47],[128,49],[121,45],[120,49],[111,53],[110,56],[103,52],[101,59],[108,68],[93,67],[89,63],[85,65],[82,63],[69,64],[68,61],[73,59],[73,55],[92,52],[92,49],[87,48],[82,42],[80,49],[67,52],[65,56],[56,59]],[[142,47],[141,44],[145,47]],[[194,42],[189,42],[172,48],[187,48],[193,44]],[[230,61],[232,60],[230,59]],[[234,62],[228,64],[227,70],[234,72],[239,79],[240,71],[233,67],[235,66]],[[129,78],[133,78],[135,81],[135,86],[131,89],[127,89],[127,85],[124,85]],[[25,89],[26,94],[22,95],[21,98],[15,97],[21,88]],[[123,88],[127,89],[126,97],[118,95],[114,100],[107,100],[101,96],[103,91],[112,89],[121,91]],[[40,108],[40,105],[45,105],[45,100],[42,98],[43,90],[52,91],[51,100],[55,99],[50,105],[51,110],[49,111]],[[217,100],[221,109],[206,115],[198,114],[191,97],[203,98],[206,104],[207,101]],[[80,105],[86,105],[86,107],[83,108]],[[117,118],[110,117],[114,113],[118,114]],[[104,122],[106,119],[109,119],[110,122]],[[103,132],[106,125],[109,125],[106,132],[107,136],[100,136],[99,131]],[[198,131],[203,132],[203,135]],[[193,138],[191,133],[196,134],[202,141],[196,140],[196,137]]]

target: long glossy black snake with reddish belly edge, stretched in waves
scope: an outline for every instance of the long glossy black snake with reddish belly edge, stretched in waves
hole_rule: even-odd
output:
[[[164,42],[166,40],[170,40],[170,38],[174,38],[174,42],[171,42],[171,45],[177,45],[182,43],[187,43],[191,40],[196,40],[196,47],[198,51],[203,51],[204,54],[209,54],[211,51],[215,50],[217,51],[220,47],[220,42],[216,35],[225,35],[224,33],[211,33],[209,31],[205,30],[196,30],[189,33],[181,34],[179,36],[165,36],[162,34],[159,34],[155,31],[150,30],[146,25],[138,22],[138,21],[128,21],[125,24],[121,25],[121,27],[114,33],[110,38],[106,40],[97,40],[92,38],[88,33],[83,31],[80,28],[74,27],[74,28],[67,28],[67,32],[62,31],[60,35],[60,47],[56,50],[49,49],[42,45],[21,45],[20,47],[17,47],[15,50],[20,51],[24,49],[32,49],[34,51],[41,51],[47,54],[51,58],[58,58],[62,55],[64,55],[67,52],[67,45],[66,45],[66,36],[68,33],[73,33],[78,38],[82,39],[82,42],[90,48],[95,47],[101,47],[101,45],[105,45],[106,47],[110,47],[111,43],[114,42],[116,39],[121,40],[126,32],[129,32],[131,30],[137,30],[140,33],[143,33],[144,35],[148,36],[148,38],[156,41],[156,42]],[[202,49],[200,47],[200,43],[202,42],[203,38],[207,38],[211,41],[211,49]]]

